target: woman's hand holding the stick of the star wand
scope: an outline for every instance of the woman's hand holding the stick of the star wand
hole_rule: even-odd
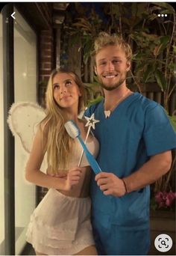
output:
[[[80,177],[81,177],[81,168],[76,166],[74,168],[71,168],[67,174],[66,177],[66,183],[65,183],[65,189],[64,190],[70,190],[72,189],[72,186],[77,185],[79,183]]]

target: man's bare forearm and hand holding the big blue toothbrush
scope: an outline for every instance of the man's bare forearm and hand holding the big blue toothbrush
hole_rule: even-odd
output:
[[[151,156],[148,162],[145,162],[139,170],[133,172],[128,177],[124,177],[123,180],[119,179],[115,174],[101,172],[95,176],[98,186],[104,192],[104,195],[114,195],[120,197],[127,192],[132,192],[137,189],[154,183],[163,174],[166,174],[172,165],[172,153],[171,150],[158,153],[155,156]]]

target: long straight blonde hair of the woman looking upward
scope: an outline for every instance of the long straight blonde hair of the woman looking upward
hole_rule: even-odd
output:
[[[47,136],[47,143],[45,150],[47,151],[48,167],[51,168],[52,174],[58,173],[58,168],[64,170],[66,163],[69,162],[72,154],[72,147],[75,144],[75,140],[72,139],[64,124],[68,121],[66,112],[56,103],[53,96],[53,79],[57,73],[68,73],[74,79],[81,91],[81,97],[79,97],[78,114],[84,109],[86,102],[86,95],[84,90],[84,84],[81,79],[72,71],[65,70],[53,70],[50,78],[48,79],[48,86],[46,90],[46,112],[47,115],[42,121],[43,132]]]

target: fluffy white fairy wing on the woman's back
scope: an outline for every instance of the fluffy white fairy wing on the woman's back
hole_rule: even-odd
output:
[[[37,125],[45,118],[45,111],[37,103],[13,103],[7,123],[14,136],[18,135],[22,147],[30,153]]]

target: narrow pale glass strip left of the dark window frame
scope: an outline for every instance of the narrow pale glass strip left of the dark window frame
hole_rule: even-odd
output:
[[[2,63],[2,15],[0,14],[0,255],[4,255],[4,92]]]

